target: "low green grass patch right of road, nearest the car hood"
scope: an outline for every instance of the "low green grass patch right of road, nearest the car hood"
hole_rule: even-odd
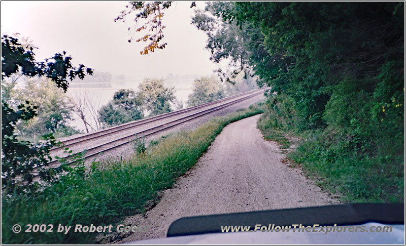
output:
[[[308,141],[306,141],[306,139]],[[344,202],[403,202],[402,161],[382,155],[365,156],[345,150],[343,142],[330,143],[313,134],[289,154],[323,189],[340,194]]]

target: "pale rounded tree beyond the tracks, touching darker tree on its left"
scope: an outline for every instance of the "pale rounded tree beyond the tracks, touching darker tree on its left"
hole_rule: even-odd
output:
[[[145,78],[140,84],[139,95],[144,100],[144,110],[149,116],[171,112],[170,103],[175,103],[175,88],[166,88],[163,79]]]

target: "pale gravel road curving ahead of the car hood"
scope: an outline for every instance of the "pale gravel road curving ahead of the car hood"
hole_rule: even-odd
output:
[[[148,226],[121,241],[166,236],[171,223],[187,216],[322,206],[339,203],[322,191],[300,169],[281,160],[277,143],[265,141],[256,128],[259,115],[223,129],[196,166],[165,190],[146,215],[125,220]]]

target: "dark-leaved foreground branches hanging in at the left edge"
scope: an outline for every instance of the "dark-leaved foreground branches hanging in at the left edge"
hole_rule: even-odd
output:
[[[23,46],[18,38],[8,35],[2,36],[2,81],[6,77],[19,72],[27,77],[48,77],[58,88],[67,90],[67,79],[85,77],[84,65],[74,67],[72,58],[65,52],[56,53],[45,62],[36,62],[33,47]],[[86,68],[87,74],[92,74],[91,68]],[[32,171],[39,168],[40,178],[44,181],[55,179],[60,168],[45,169],[52,159],[49,150],[54,146],[52,134],[45,135],[45,143],[33,145],[28,141],[19,141],[16,135],[18,121],[30,120],[37,115],[38,106],[28,101],[17,106],[17,110],[10,108],[2,100],[2,194],[13,192],[32,192],[38,189],[38,182],[33,182]],[[18,185],[19,179],[24,185]]]

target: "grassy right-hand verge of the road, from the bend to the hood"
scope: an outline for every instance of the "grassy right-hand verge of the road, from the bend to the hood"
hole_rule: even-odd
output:
[[[404,202],[404,162],[402,153],[378,149],[360,154],[349,147],[350,141],[324,131],[294,132],[273,128],[275,121],[268,110],[257,122],[267,140],[277,141],[281,148],[289,147],[284,134],[299,137],[297,148],[288,153],[307,176],[343,202]]]

